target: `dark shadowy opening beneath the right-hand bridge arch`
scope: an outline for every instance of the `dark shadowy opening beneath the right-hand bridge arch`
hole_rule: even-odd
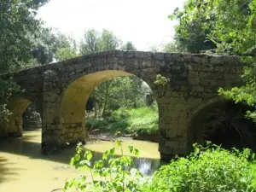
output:
[[[189,143],[211,141],[223,148],[252,148],[256,144],[253,120],[243,104],[214,102],[196,113],[189,124]]]

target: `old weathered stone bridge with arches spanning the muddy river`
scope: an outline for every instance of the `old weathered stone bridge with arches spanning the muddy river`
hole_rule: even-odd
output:
[[[168,79],[166,85],[154,84],[159,73]],[[113,50],[3,74],[2,79],[13,77],[25,91],[10,99],[13,114],[0,134],[21,136],[22,113],[35,102],[44,150],[84,141],[84,105],[91,91],[106,79],[136,75],[153,90],[159,108],[159,151],[162,159],[170,159],[202,141],[201,119],[223,102],[218,88],[241,85],[241,73],[236,56]]]

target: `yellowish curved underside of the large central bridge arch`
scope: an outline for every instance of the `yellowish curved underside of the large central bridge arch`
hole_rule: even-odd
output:
[[[90,71],[90,73],[85,75],[79,73],[80,77],[77,79],[73,80],[71,78],[72,82],[67,84],[65,91],[61,95],[59,112],[61,127],[66,132],[67,143],[83,141],[87,137],[85,131],[85,104],[96,86],[108,79],[131,75],[137,75],[138,78],[143,79],[151,87],[145,76],[142,78],[140,73],[128,73],[123,67],[115,69],[110,67],[108,70],[95,70],[95,72]]]

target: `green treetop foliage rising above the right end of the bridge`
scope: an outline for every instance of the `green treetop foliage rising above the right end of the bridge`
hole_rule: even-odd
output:
[[[189,52],[252,55],[255,47],[256,1],[187,0],[171,20],[178,20],[177,44]]]

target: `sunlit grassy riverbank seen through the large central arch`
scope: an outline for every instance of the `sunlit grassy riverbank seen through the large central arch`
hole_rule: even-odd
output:
[[[90,137],[112,139],[116,132],[121,137],[158,142],[158,109],[156,107],[119,108],[106,117],[86,117]]]

